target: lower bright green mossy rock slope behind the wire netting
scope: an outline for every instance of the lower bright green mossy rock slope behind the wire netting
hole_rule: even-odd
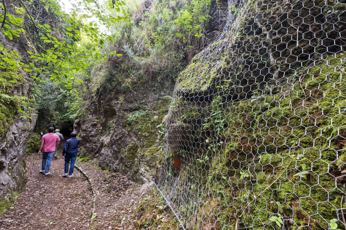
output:
[[[180,118],[193,127],[186,134],[194,135],[179,142],[194,155],[178,154],[186,162],[180,177],[189,177],[184,182],[193,188],[180,189],[203,198],[197,218],[220,229],[237,219],[239,228],[271,224],[273,216],[282,217],[288,229],[328,229],[330,220],[342,218],[345,56],[299,69],[299,79],[283,85],[282,93],[240,101],[219,94],[203,112],[180,109]],[[206,214],[210,205],[214,211]],[[194,220],[189,224],[195,226]],[[275,222],[271,227],[279,229]]]

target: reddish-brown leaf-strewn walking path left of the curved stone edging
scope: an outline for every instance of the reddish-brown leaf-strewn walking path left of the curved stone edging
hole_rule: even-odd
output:
[[[63,178],[64,160],[52,160],[51,174],[38,173],[42,157],[26,159],[26,190],[0,215],[0,229],[90,229],[93,195],[85,177]]]

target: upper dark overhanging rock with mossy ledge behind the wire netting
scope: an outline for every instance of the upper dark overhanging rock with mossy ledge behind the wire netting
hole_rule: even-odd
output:
[[[231,17],[230,28],[180,73],[177,92],[205,96],[227,87],[233,91],[233,98],[249,98],[258,86],[265,88],[273,78],[285,78],[311,62],[311,53],[320,57],[340,52],[346,41],[334,29],[344,30],[339,18],[344,17],[346,6],[340,2],[251,0],[235,8],[233,16],[237,18]],[[309,34],[296,37],[297,32],[306,31]],[[324,39],[323,45],[314,36]]]

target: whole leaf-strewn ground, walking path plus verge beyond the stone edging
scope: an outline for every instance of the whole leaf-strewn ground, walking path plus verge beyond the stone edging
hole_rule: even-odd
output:
[[[90,183],[77,169],[74,177],[63,178],[62,158],[52,161],[51,174],[45,176],[38,173],[41,161],[36,154],[26,159],[26,190],[0,214],[0,230],[179,229],[152,183],[137,184],[91,162],[76,162]]]

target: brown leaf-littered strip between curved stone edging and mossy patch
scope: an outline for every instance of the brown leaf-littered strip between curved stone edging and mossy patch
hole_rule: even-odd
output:
[[[89,162],[76,165],[91,179],[95,194],[92,229],[135,229],[136,207],[152,186],[141,186],[121,173],[102,171]]]

